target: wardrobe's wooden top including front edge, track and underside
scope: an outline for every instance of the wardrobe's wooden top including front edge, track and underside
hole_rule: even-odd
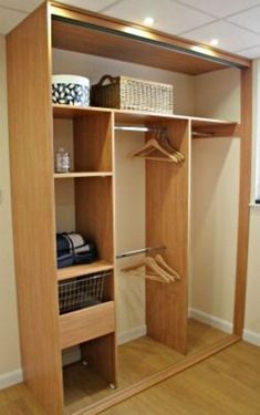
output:
[[[248,59],[206,44],[72,7],[53,6],[52,14],[54,48],[69,50],[77,48],[79,52],[162,69],[167,64],[165,69],[190,74],[205,73],[227,65],[240,68],[250,65]],[[55,15],[59,18],[56,19]],[[73,21],[77,24],[73,25]],[[105,28],[105,31],[102,32],[102,28]],[[126,48],[127,53],[125,53]]]

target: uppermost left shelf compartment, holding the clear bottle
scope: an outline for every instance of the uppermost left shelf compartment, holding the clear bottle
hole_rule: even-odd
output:
[[[54,154],[70,153],[71,174],[113,172],[111,111],[56,105],[53,115]]]

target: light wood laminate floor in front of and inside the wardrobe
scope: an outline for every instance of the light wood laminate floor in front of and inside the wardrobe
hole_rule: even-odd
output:
[[[199,340],[196,338],[197,334],[200,334]],[[212,342],[212,340],[221,339],[222,335],[218,331],[215,332],[214,329],[212,331],[207,330],[204,324],[191,322],[189,353],[199,351],[204,345],[210,344],[209,342]],[[170,353],[164,354],[163,361],[158,362],[157,357],[154,359],[153,351],[149,351],[147,359],[142,364],[139,360],[136,365],[131,364],[129,360],[135,353],[139,353],[142,346],[145,347],[146,352],[147,347],[150,347],[147,338],[131,342],[127,347],[126,345],[121,347],[119,362],[127,367],[126,373],[119,377],[121,387],[139,380],[136,374],[138,371],[142,377],[144,374],[148,374],[148,366],[154,371],[163,364],[168,364]],[[180,359],[179,355],[176,359]],[[81,380],[79,372],[77,376]],[[73,383],[73,374],[70,375],[70,380]],[[98,390],[100,380],[92,380],[92,382],[93,385],[90,388]],[[77,390],[77,393],[74,390],[74,392],[70,392],[71,395],[66,395],[67,407],[65,413],[72,413],[71,411],[75,405],[74,400],[81,400],[83,392],[85,392],[84,385],[82,385],[82,390]],[[238,342],[187,371],[105,411],[103,414],[259,415],[260,347],[246,342]],[[50,414],[42,411],[23,384],[19,384],[0,391],[0,415]]]

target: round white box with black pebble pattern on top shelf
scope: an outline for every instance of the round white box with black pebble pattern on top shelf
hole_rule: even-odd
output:
[[[76,75],[52,75],[53,104],[89,106],[90,80]]]

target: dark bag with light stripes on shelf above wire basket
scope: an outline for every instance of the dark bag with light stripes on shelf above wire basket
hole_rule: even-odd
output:
[[[91,263],[96,260],[96,248],[93,242],[75,232],[56,234],[58,268],[73,263]]]

